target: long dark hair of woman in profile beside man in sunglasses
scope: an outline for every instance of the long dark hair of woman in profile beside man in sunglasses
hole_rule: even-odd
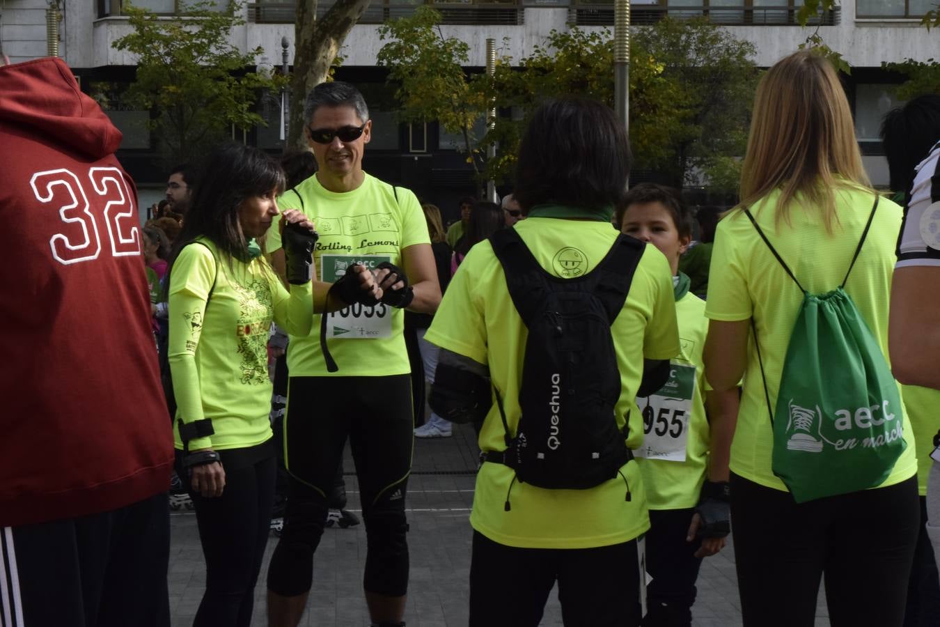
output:
[[[263,196],[271,190],[284,191],[284,170],[266,153],[242,144],[226,144],[215,149],[203,167],[186,212],[180,236],[173,247],[167,276],[180,250],[196,238],[215,244],[219,254],[229,261],[248,261],[248,241],[239,222],[243,201]],[[169,285],[169,280],[166,281]]]

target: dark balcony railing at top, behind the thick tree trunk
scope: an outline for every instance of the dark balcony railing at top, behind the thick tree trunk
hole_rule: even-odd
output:
[[[444,24],[456,25],[517,25],[524,24],[525,11],[516,2],[428,2],[441,12]],[[317,17],[322,17],[332,6],[331,2],[317,5]],[[415,4],[369,4],[359,24],[383,24],[385,21],[407,17],[415,12]],[[248,21],[254,24],[293,24],[297,14],[296,2],[250,3]]]

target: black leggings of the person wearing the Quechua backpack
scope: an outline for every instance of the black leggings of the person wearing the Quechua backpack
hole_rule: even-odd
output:
[[[537,627],[558,582],[565,627],[635,627],[636,541],[589,549],[521,549],[473,533],[470,627]]]

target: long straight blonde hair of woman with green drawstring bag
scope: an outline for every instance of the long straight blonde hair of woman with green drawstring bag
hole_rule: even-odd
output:
[[[790,224],[791,203],[838,224],[836,191],[871,189],[855,140],[852,111],[828,60],[809,51],[787,56],[760,79],[741,172],[741,206],[776,189],[776,224]]]

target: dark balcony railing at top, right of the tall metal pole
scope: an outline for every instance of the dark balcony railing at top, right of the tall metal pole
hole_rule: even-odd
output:
[[[661,7],[658,5],[634,5],[631,8],[631,23],[636,25],[655,24],[665,18],[706,17],[714,24],[734,26],[792,26],[799,25],[796,13],[799,7],[741,7],[741,6],[700,6],[700,7]],[[838,24],[840,8],[825,11],[822,15],[809,20],[808,24],[833,26]],[[614,5],[593,2],[572,1],[568,8],[568,23],[578,26],[614,25]]]

